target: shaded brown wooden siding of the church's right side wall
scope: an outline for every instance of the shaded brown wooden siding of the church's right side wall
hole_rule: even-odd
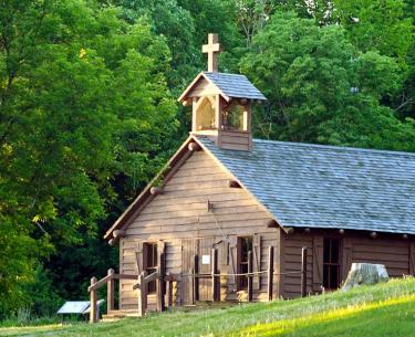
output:
[[[321,292],[324,238],[340,239],[341,282],[344,282],[354,262],[384,264],[392,277],[414,274],[411,256],[414,255],[415,243],[402,239],[401,235],[383,234],[381,238],[371,239],[367,232],[360,231],[340,235],[339,231],[312,230],[311,233],[305,233],[299,229],[293,234],[282,234],[278,241],[281,244],[279,267],[282,272],[300,270],[301,248],[307,246],[308,292]],[[300,275],[281,276],[281,295],[287,298],[300,296]]]

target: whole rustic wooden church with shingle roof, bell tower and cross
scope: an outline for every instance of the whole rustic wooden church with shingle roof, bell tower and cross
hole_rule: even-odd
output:
[[[273,298],[298,296],[302,248],[307,293],[338,288],[352,262],[414,274],[415,154],[252,139],[251,106],[266,97],[245,75],[218,72],[217,35],[203,51],[208,71],[179,97],[193,108],[188,139],[105,234],[120,245],[120,274],[152,274],[163,263],[166,275],[183,275],[173,305],[195,292],[215,298],[211,278],[186,277],[211,273],[212,263],[218,301],[246,301],[248,277],[238,274],[249,263],[252,301],[269,299],[269,282]],[[261,274],[270,256],[272,277]],[[124,310],[138,304],[131,278],[121,280]],[[155,284],[147,291],[152,309]]]

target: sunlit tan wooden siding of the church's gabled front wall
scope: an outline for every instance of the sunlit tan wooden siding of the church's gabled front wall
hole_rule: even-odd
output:
[[[273,244],[277,248],[279,229],[267,228],[267,222],[271,219],[269,213],[243,189],[229,188],[229,179],[232,177],[208,154],[196,151],[188,157],[165,182],[164,193],[152,198],[125,228],[126,234],[120,246],[121,271],[126,274],[136,273],[135,251],[138,242],[163,240],[166,243],[166,272],[188,273],[196,252],[201,260],[201,255],[210,254],[214,243],[221,242],[224,235],[255,233],[261,238],[260,270],[267,270],[268,246]],[[214,206],[212,212],[207,210],[207,200]],[[225,244],[218,244],[217,248],[219,270],[228,272]],[[210,265],[199,265],[199,272],[210,272]],[[138,301],[132,291],[134,283],[122,281],[120,303],[123,309],[136,308]],[[200,281],[200,299],[210,299],[210,280]],[[260,277],[260,283],[253,299],[267,297],[267,277]],[[229,293],[224,284],[220,293],[224,301],[238,298],[238,294]],[[189,282],[176,284],[176,305],[189,304],[190,295]],[[148,305],[153,307],[156,299],[152,296],[148,297]]]

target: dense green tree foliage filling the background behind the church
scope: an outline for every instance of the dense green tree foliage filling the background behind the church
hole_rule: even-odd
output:
[[[0,318],[117,265],[102,234],[186,137],[208,32],[269,98],[258,137],[415,150],[412,0],[0,4]]]

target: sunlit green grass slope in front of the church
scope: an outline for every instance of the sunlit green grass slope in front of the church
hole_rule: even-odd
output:
[[[0,328],[0,336],[415,336],[415,278],[347,293],[240,305],[226,309],[153,314],[94,326]]]

